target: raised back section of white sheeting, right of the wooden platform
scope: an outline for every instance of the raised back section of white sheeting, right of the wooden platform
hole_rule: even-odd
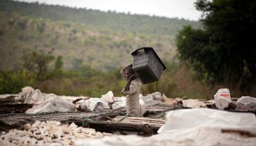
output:
[[[234,113],[209,108],[173,110],[166,114],[166,124],[158,132],[198,127],[241,130],[256,134],[253,113]]]

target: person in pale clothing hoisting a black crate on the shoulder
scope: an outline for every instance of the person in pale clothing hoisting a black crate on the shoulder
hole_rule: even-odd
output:
[[[122,90],[122,94],[126,95],[126,113],[127,116],[147,116],[145,108],[139,103],[139,94],[141,83],[139,81],[139,73],[134,73],[131,65],[121,70],[122,76],[127,81],[126,86]]]

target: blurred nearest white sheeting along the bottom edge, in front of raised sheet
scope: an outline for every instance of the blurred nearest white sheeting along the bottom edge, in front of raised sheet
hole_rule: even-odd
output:
[[[157,145],[204,145],[204,146],[255,146],[255,137],[241,136],[238,133],[223,133],[220,128],[182,129],[156,134],[151,137],[106,136],[100,139],[76,140],[75,146],[157,146]]]

